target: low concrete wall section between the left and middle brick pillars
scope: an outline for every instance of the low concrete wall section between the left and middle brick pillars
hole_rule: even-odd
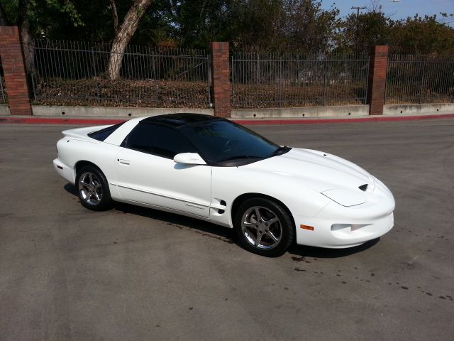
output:
[[[178,114],[191,112],[195,114],[214,115],[213,109],[192,108],[116,108],[116,107],[55,107],[32,105],[34,116],[80,116],[80,117],[144,117],[161,114]]]

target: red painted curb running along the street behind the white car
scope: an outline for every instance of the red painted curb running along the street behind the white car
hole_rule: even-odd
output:
[[[419,121],[423,119],[451,119],[454,114],[436,114],[421,116],[372,116],[353,119],[233,119],[232,121],[247,125],[281,125],[281,124],[326,124],[326,123],[358,123],[384,121]],[[0,117],[0,124],[71,124],[71,125],[102,125],[117,124],[125,119],[60,119],[49,117]]]

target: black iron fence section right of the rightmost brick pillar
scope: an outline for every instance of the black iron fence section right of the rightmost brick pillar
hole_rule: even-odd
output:
[[[389,55],[386,104],[453,102],[454,58]]]

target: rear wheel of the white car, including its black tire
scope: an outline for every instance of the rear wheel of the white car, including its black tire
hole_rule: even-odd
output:
[[[80,203],[85,208],[92,211],[104,211],[112,207],[113,200],[109,183],[99,168],[94,166],[80,168],[76,175],[75,185]]]

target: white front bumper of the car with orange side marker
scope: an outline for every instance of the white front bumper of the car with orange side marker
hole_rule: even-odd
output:
[[[331,249],[358,246],[392,229],[394,207],[392,193],[378,182],[363,204],[345,207],[330,202],[316,217],[296,215],[297,244]],[[301,224],[314,227],[314,230],[302,229]],[[333,225],[341,225],[341,228],[333,229]]]

